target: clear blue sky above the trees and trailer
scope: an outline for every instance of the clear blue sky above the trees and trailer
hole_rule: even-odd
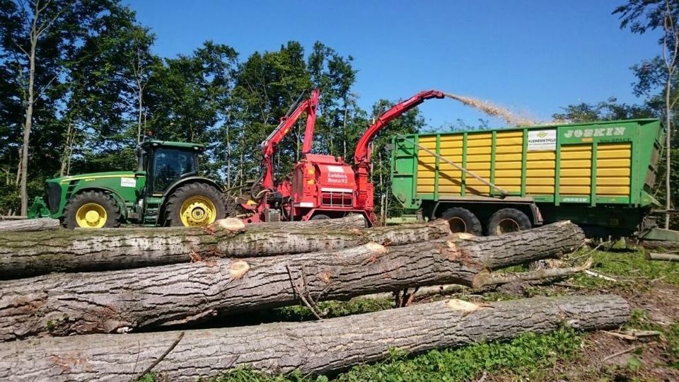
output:
[[[380,98],[436,88],[536,120],[610,96],[640,102],[629,66],[658,54],[658,34],[620,30],[611,12],[624,2],[127,0],[156,33],[156,53],[166,57],[209,39],[231,45],[241,59],[289,40],[311,50],[320,40],[354,57],[354,90],[366,110]],[[433,127],[489,119],[447,99],[420,109]]]

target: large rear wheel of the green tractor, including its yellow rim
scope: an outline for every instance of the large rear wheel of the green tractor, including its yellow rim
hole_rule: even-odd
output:
[[[206,183],[182,185],[165,207],[166,226],[207,226],[225,217],[224,195]]]

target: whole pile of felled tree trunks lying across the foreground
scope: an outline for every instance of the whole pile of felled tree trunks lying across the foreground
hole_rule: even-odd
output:
[[[0,380],[129,380],[148,366],[171,380],[240,365],[324,373],[381,359],[389,347],[420,352],[559,325],[613,328],[629,313],[617,296],[436,301],[257,330],[180,331],[279,306],[303,303],[320,318],[318,301],[559,277],[588,263],[497,271],[560,257],[583,243],[581,229],[570,222],[474,237],[452,234],[445,221],[364,228],[356,216],[247,226],[224,219],[206,228],[0,231]]]

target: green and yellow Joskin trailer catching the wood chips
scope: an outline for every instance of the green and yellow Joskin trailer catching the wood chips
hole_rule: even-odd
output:
[[[656,119],[393,137],[393,195],[454,231],[499,234],[569,219],[629,236],[651,194],[665,131]]]

